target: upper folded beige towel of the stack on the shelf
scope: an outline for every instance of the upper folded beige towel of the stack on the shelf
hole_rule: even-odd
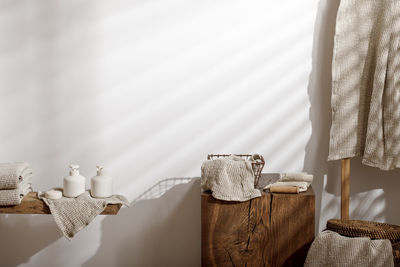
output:
[[[16,189],[32,169],[27,162],[0,163],[0,190]]]

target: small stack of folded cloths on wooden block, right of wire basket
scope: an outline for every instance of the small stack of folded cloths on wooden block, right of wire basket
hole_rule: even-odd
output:
[[[313,176],[305,172],[281,173],[277,182],[264,187],[272,193],[299,193],[307,191],[313,181]]]

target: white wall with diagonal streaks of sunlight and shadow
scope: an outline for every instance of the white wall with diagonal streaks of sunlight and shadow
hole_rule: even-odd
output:
[[[29,161],[36,190],[102,163],[132,202],[71,242],[51,216],[1,215],[5,266],[199,266],[198,179],[175,178],[208,153],[314,173],[323,229],[340,203],[326,161],[338,3],[0,2],[0,161]],[[352,168],[352,217],[400,223],[400,172]]]

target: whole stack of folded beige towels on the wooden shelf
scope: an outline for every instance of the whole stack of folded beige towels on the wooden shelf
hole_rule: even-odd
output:
[[[0,206],[19,205],[31,191],[32,168],[29,163],[0,163]]]

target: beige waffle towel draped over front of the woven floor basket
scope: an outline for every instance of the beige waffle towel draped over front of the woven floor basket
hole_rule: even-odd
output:
[[[389,240],[344,237],[332,231],[320,233],[312,243],[305,267],[380,267],[394,266]]]

